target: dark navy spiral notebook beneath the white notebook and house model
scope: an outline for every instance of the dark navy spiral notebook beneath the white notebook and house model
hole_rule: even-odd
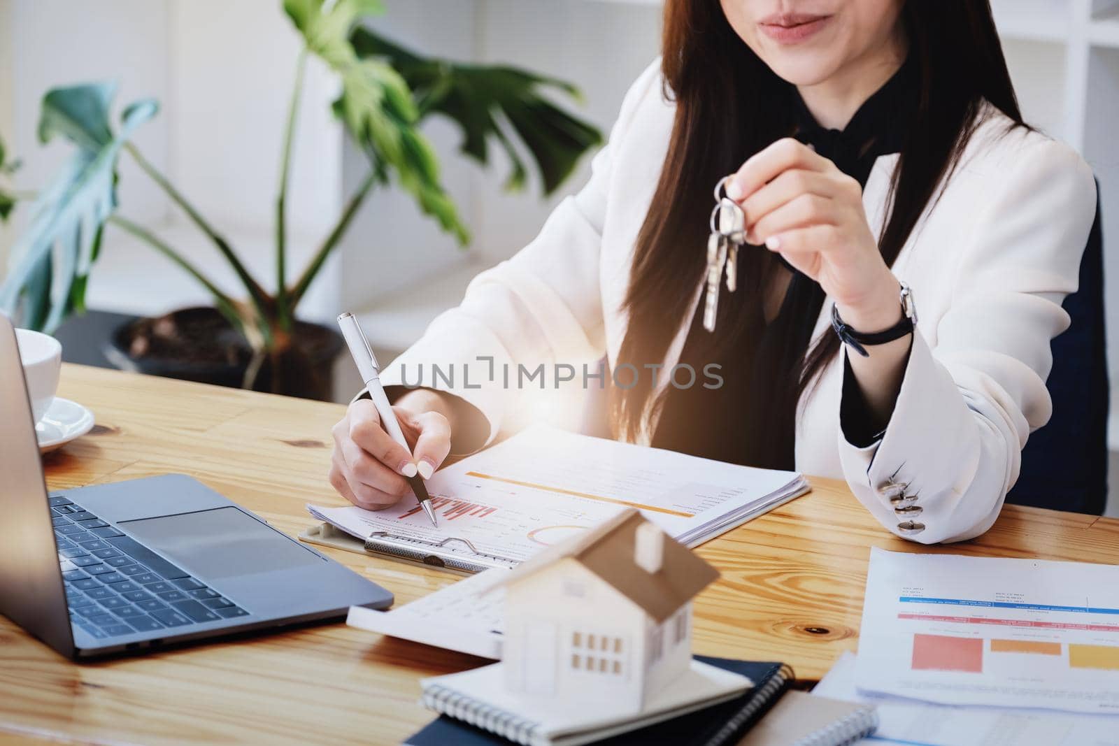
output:
[[[593,731],[584,731],[564,739],[535,740],[521,739],[519,743],[535,744],[580,744],[580,743],[602,743],[609,746],[637,746],[646,744],[678,744],[680,746],[733,746],[739,743],[743,734],[777,702],[788,689],[792,681],[792,670],[781,663],[762,663],[750,661],[735,661],[723,658],[707,658],[697,655],[696,661],[724,671],[730,671],[749,678],[754,686],[745,692],[732,699],[714,703],[700,709],[692,709],[686,712],[678,712],[673,717],[673,712],[664,714],[660,721],[651,719],[640,719],[631,721],[626,733],[620,733],[614,726]],[[445,679],[445,677],[440,677]],[[439,679],[429,681],[438,682]],[[455,715],[468,715],[473,711],[476,715],[487,715],[488,718],[473,717],[480,725],[496,725],[488,720],[500,719],[500,712],[486,710],[486,705],[478,701],[477,692],[469,698],[454,700],[453,707],[446,707],[446,701],[453,698],[454,690],[445,687],[440,690],[432,688],[431,699],[439,698],[444,701],[443,707],[452,710]],[[425,702],[429,701],[429,687],[425,686]],[[507,714],[511,715],[511,714]],[[528,731],[526,729],[526,736]],[[470,725],[463,719],[454,719],[443,715],[426,728],[415,734],[407,740],[408,746],[436,746],[442,744],[455,744],[457,746],[493,746],[508,744],[505,738],[495,733],[487,731],[481,727]],[[816,746],[814,744],[814,746]]]

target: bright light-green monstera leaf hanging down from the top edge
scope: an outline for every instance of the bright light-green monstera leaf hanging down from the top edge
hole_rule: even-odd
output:
[[[376,172],[383,180],[395,173],[425,213],[467,243],[467,229],[440,183],[435,153],[416,129],[420,113],[407,83],[384,60],[360,58],[350,44],[358,21],[383,11],[379,0],[284,0],[284,10],[307,48],[338,74],[342,92],[335,112]]]

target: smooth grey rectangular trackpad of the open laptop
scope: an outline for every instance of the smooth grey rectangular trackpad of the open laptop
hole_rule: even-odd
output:
[[[206,580],[322,559],[236,508],[120,521],[141,544]]]

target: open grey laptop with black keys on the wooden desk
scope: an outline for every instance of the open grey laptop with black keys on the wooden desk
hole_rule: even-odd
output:
[[[16,332],[0,314],[0,614],[94,658],[385,608],[393,594],[197,480],[48,494]]]

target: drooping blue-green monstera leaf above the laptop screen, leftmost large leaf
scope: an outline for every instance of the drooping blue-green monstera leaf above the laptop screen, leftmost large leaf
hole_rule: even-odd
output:
[[[132,131],[158,111],[154,101],[126,107],[114,133],[109,108],[112,83],[53,88],[43,98],[39,140],[63,136],[74,155],[31,207],[31,223],[12,247],[11,271],[0,286],[0,309],[23,301],[23,323],[54,330],[82,308],[90,266],[105,220],[116,208],[116,161]]]

